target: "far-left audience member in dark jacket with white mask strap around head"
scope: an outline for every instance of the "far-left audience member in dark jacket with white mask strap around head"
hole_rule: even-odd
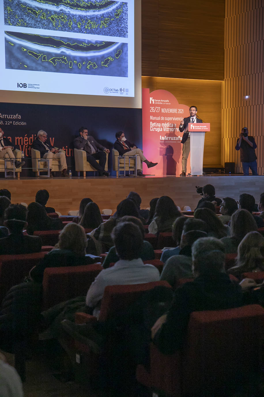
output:
[[[0,255],[30,254],[41,251],[41,238],[23,234],[27,225],[27,208],[22,204],[10,204],[5,212],[4,224],[8,227],[8,237],[0,239]]]

